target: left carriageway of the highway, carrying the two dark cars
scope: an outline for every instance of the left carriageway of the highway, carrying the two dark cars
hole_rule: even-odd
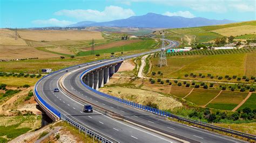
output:
[[[77,69],[77,67],[69,70],[73,69]],[[131,125],[125,121],[112,119],[97,111],[94,111],[93,113],[84,113],[84,103],[65,95],[60,88],[60,92],[53,92],[54,88],[59,87],[59,85],[57,85],[58,80],[64,74],[65,71],[59,71],[52,74],[49,77],[44,78],[44,80],[39,82],[37,86],[39,95],[41,95],[47,103],[63,113],[63,115],[77,121],[85,127],[93,128],[119,142],[179,142],[145,130],[144,128]]]

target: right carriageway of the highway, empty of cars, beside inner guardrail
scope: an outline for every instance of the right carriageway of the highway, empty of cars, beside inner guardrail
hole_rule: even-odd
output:
[[[101,63],[103,64],[103,63]],[[99,64],[100,65],[100,64]],[[161,128],[170,133],[175,133],[182,135],[184,137],[200,141],[200,142],[240,142],[240,140],[233,139],[230,137],[225,137],[220,134],[215,134],[208,132],[206,130],[201,130],[198,128],[188,127],[186,125],[177,124],[172,121],[166,121],[164,117],[154,115],[152,113],[138,110],[130,106],[118,103],[111,99],[102,97],[95,92],[85,88],[79,80],[79,76],[83,73],[84,69],[79,69],[68,74],[63,79],[64,87],[86,101],[92,102],[105,109],[119,113],[133,120],[140,121],[141,123],[151,125],[154,127]]]

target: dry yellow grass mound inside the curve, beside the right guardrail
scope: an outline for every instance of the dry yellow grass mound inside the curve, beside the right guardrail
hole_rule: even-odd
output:
[[[124,98],[139,104],[147,105],[149,102],[158,105],[161,110],[171,110],[182,106],[182,104],[172,97],[166,97],[154,91],[147,91],[142,89],[131,89],[123,87],[109,87],[101,88],[100,91],[106,92],[119,98]],[[111,91],[111,92],[110,92]],[[132,91],[132,92],[131,92]]]

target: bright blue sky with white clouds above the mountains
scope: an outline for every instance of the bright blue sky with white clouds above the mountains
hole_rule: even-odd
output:
[[[0,27],[65,26],[105,22],[148,12],[167,16],[256,20],[256,0],[0,0]]]

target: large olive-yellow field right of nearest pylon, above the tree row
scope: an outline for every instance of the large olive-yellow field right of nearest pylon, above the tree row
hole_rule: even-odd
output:
[[[164,78],[184,78],[185,74],[189,75],[190,73],[196,75],[199,75],[199,73],[203,75],[212,74],[223,77],[225,75],[237,75],[241,77],[244,76],[245,58],[246,54],[169,56],[167,57],[168,66],[161,68],[157,66],[158,58],[152,58],[152,71],[161,71]],[[246,62],[251,62],[251,60]],[[248,68],[250,76],[256,75],[252,64],[250,63],[251,66],[248,66],[251,67]]]

